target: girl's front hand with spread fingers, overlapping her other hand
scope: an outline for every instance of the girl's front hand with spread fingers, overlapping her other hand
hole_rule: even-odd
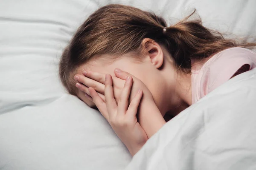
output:
[[[117,104],[114,99],[113,82],[110,74],[105,76],[104,94],[106,102],[102,100],[94,88],[90,87],[88,91],[99,111],[108,120],[116,135],[122,140],[133,156],[145,144],[148,137],[137,122],[136,117],[143,91],[137,91],[130,105],[128,103],[132,84],[132,77],[127,77]]]

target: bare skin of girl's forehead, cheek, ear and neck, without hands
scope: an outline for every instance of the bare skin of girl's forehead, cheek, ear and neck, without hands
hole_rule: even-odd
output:
[[[114,69],[122,68],[146,85],[163,116],[166,113],[176,116],[191,105],[191,75],[177,69],[172,57],[163,46],[151,39],[144,39],[143,42],[148,43],[146,50],[153,52],[148,52],[142,57],[130,57],[131,54],[125,54],[111,61],[112,56],[102,55],[82,65],[78,69],[78,76],[83,76],[84,70],[91,70],[116,77]],[[124,82],[118,83],[124,84]],[[84,92],[79,91],[78,96],[93,107],[93,102],[85,96]]]

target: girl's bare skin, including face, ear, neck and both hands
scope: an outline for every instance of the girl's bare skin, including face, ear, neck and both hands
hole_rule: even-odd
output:
[[[147,51],[145,55],[132,58],[134,54],[125,54],[115,60],[110,60],[113,56],[98,56],[82,65],[74,77],[80,89],[79,98],[91,106],[96,104],[131,155],[166,123],[163,116],[167,112],[175,116],[191,105],[190,74],[179,71],[166,49],[157,42],[144,39],[142,43]],[[123,97],[127,84],[131,92],[126,90]],[[131,106],[138,91],[142,91],[142,99],[137,97],[137,106]],[[133,112],[127,109],[130,107]],[[122,116],[128,112],[132,115],[130,119]]]

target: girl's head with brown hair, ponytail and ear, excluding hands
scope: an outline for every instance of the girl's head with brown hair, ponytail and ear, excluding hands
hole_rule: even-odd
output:
[[[183,84],[178,75],[190,73],[191,60],[247,45],[225,40],[189,17],[168,27],[162,17],[131,6],[99,8],[64,50],[59,67],[62,83],[79,96],[73,77],[82,69],[113,75],[115,68],[121,68],[144,82],[159,107],[163,101],[177,102],[175,98],[184,93],[177,91]]]

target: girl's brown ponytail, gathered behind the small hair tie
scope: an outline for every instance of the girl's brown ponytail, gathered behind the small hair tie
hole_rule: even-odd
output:
[[[183,71],[191,72],[191,59],[204,59],[227,48],[256,46],[256,43],[224,39],[221,33],[205,28],[201,20],[188,21],[194,13],[163,32],[164,45]]]

